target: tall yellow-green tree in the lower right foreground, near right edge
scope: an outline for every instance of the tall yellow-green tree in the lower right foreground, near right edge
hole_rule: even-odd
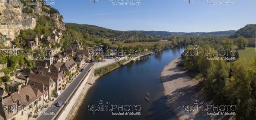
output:
[[[250,114],[253,110],[251,80],[248,76],[245,60],[240,59],[233,63],[232,76],[225,85],[227,100],[237,106],[236,117],[238,120],[250,120]]]

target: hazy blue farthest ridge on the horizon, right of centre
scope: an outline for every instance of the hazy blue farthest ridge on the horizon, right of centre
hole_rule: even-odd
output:
[[[139,31],[152,36],[206,36],[206,35],[231,35],[236,31],[216,31],[216,32],[168,32],[168,31]]]

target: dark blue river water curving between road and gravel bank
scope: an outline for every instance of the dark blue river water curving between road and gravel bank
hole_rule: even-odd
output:
[[[183,50],[163,50],[103,75],[87,92],[74,120],[176,120],[175,114],[165,105],[160,75],[163,67],[180,56]],[[144,99],[146,92],[150,93],[150,102]],[[106,107],[99,110],[100,105],[106,104],[127,105],[122,107],[123,110],[116,108],[113,113],[126,113],[126,109],[132,113],[140,112],[140,115],[112,115]],[[141,106],[141,110],[136,111],[135,106],[137,110]],[[94,110],[95,114],[89,110]]]

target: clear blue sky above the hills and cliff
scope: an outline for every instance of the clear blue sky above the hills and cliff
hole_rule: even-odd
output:
[[[49,1],[49,0],[48,0]],[[110,0],[54,0],[64,22],[97,25],[120,31],[209,32],[238,30],[256,23],[256,0],[140,0],[140,5],[115,6]],[[122,2],[122,0],[113,0]],[[125,2],[125,0],[124,0]],[[137,2],[137,0],[128,0]]]

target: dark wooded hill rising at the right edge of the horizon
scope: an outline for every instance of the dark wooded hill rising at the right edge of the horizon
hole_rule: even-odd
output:
[[[231,37],[237,38],[239,36],[243,36],[246,38],[253,38],[255,37],[255,32],[256,32],[256,24],[248,24],[245,25],[243,28],[240,28],[239,30],[236,31]]]

